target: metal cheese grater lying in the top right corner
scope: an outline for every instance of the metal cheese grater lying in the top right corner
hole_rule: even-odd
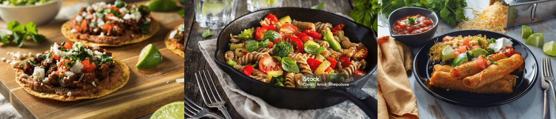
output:
[[[556,17],[556,0],[490,0],[508,6],[506,27],[533,23]]]

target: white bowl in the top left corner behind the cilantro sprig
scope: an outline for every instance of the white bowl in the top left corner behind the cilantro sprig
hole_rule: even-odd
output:
[[[0,4],[0,18],[6,23],[16,20],[21,24],[33,21],[34,24],[42,25],[52,21],[61,8],[62,0],[52,0],[29,6],[5,6]]]

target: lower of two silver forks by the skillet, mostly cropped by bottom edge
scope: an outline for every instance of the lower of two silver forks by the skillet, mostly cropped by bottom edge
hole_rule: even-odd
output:
[[[185,95],[185,115],[190,116],[192,118],[201,118],[201,117],[212,117],[212,118],[221,118],[224,117],[216,115],[216,113],[209,112],[209,109],[203,108],[197,105],[195,102],[191,101],[191,99],[187,98]]]

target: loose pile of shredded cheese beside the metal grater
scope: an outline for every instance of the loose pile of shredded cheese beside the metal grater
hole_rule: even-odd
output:
[[[473,14],[475,14],[475,18],[461,21],[456,29],[478,29],[506,33],[508,6],[504,6],[502,2],[495,2],[491,6],[483,8],[482,12],[474,10]]]

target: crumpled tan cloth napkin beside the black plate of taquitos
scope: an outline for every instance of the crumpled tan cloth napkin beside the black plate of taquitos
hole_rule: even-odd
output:
[[[403,43],[390,37],[381,42],[378,50],[378,118],[419,118],[417,100],[409,84],[411,51]]]

